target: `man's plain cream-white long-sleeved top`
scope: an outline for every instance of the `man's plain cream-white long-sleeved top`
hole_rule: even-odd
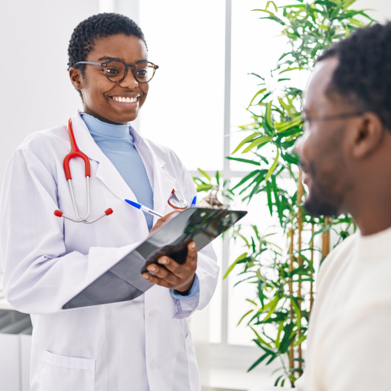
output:
[[[352,235],[320,268],[299,391],[391,390],[391,228]]]

